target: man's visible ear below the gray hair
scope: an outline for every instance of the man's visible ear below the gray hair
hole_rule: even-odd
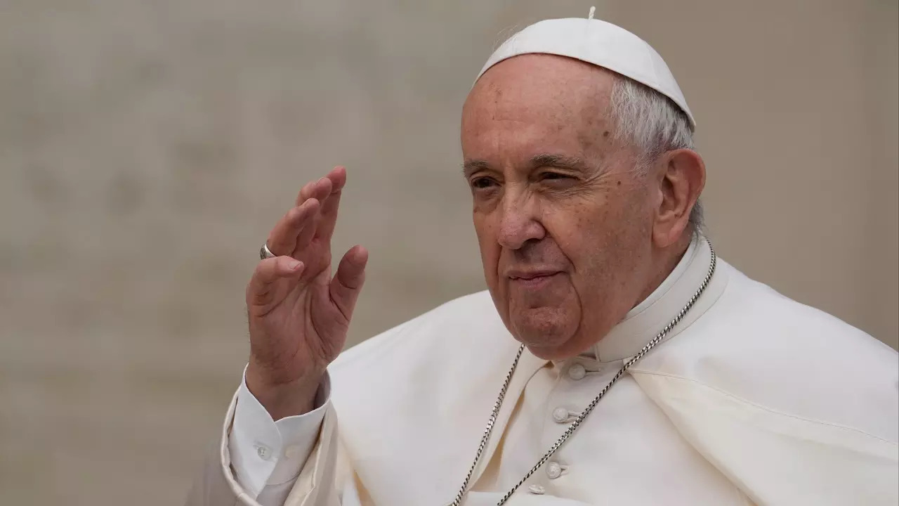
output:
[[[655,211],[653,242],[666,248],[683,236],[690,212],[706,185],[706,164],[692,149],[674,149],[658,161],[659,205]]]

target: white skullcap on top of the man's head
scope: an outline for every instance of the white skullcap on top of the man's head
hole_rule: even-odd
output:
[[[696,128],[681,87],[659,53],[635,34],[598,19],[549,19],[531,24],[490,55],[477,79],[503,59],[533,53],[580,59],[630,77],[671,98]]]

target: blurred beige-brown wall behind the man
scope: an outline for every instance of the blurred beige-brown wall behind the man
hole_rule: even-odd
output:
[[[351,341],[484,288],[461,104],[503,39],[589,0],[0,3],[0,503],[180,504],[247,354],[244,286],[349,167]],[[699,122],[708,232],[897,346],[895,0],[606,0]]]

